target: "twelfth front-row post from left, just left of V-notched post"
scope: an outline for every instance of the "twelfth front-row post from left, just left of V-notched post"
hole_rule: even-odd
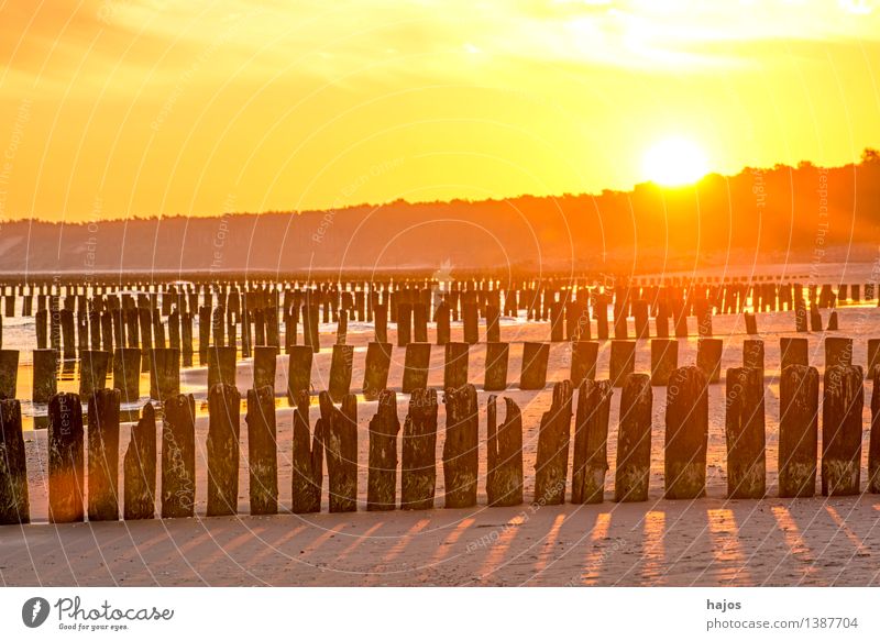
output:
[[[447,438],[443,443],[444,507],[469,508],[476,505],[479,476],[480,416],[476,388],[465,385],[449,388],[443,395],[447,406]]]

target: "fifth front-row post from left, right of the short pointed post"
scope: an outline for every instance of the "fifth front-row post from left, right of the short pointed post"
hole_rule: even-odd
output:
[[[162,420],[162,518],[185,518],[196,505],[196,399],[165,399]]]

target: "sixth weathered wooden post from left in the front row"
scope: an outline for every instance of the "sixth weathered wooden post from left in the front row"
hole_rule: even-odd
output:
[[[232,516],[239,508],[241,394],[217,384],[208,390],[208,516]]]

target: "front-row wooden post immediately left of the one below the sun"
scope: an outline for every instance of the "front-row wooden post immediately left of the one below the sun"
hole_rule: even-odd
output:
[[[614,500],[648,500],[651,472],[651,406],[653,391],[647,374],[630,374],[620,393],[620,428]]]

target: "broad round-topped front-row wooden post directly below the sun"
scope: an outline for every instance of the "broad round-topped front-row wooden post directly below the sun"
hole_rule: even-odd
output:
[[[707,445],[706,376],[698,367],[680,367],[669,377],[667,387],[666,498],[700,498],[705,494]]]

